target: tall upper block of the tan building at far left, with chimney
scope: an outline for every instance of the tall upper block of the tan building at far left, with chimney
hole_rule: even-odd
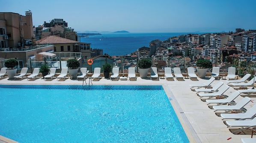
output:
[[[34,37],[31,11],[26,11],[26,16],[0,12],[0,51],[17,48],[18,42],[21,46],[33,45]]]

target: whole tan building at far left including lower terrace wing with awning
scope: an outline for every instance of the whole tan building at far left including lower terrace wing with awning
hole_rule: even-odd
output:
[[[51,60],[56,55],[51,44],[35,45],[32,12],[26,15],[13,12],[0,12],[0,66],[6,59],[16,58],[18,69],[31,67],[30,63],[39,58]]]

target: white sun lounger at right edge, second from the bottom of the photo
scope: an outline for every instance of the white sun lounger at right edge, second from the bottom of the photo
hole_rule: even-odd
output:
[[[240,127],[240,129],[236,130],[235,132],[242,131],[244,129],[249,129],[256,126],[256,117],[252,120],[227,120],[226,121],[227,127]],[[235,133],[232,132],[232,133]]]

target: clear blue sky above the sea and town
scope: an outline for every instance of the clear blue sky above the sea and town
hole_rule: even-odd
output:
[[[33,25],[60,18],[75,31],[220,32],[256,29],[256,0],[5,0],[0,12]]]

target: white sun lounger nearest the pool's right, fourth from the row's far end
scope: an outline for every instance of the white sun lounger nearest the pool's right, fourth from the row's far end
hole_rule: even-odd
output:
[[[226,104],[226,103],[232,102],[236,97],[239,96],[239,94],[240,94],[240,92],[235,91],[232,94],[230,94],[229,97],[227,97],[225,99],[208,99],[208,100],[206,100],[206,102],[208,104],[212,104],[212,103],[216,103],[218,105]]]

